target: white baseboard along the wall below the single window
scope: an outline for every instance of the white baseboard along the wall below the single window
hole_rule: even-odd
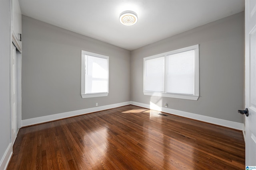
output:
[[[92,113],[92,112],[96,112],[96,111],[112,109],[115,107],[126,106],[129,104],[131,104],[130,101],[118,103],[118,104],[106,105],[106,106],[92,107],[92,108],[82,109],[82,110],[68,111],[68,112],[58,113],[58,114],[54,114],[54,115],[35,117],[35,118],[31,118],[31,119],[22,120],[21,125],[22,125],[22,127],[29,126],[29,125],[35,125],[38,123],[44,123],[44,122],[48,122],[48,121],[54,121],[54,120],[63,119],[63,118],[67,118],[67,117],[83,115],[83,114]]]

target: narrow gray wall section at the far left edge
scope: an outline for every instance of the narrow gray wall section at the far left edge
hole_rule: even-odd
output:
[[[0,162],[10,144],[10,2],[0,1]]]

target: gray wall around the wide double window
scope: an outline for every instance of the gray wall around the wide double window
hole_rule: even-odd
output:
[[[143,94],[143,58],[199,44],[197,101]],[[243,123],[244,13],[208,23],[131,52],[131,101]]]

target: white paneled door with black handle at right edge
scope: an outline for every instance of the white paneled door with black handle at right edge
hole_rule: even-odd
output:
[[[246,166],[256,166],[256,0],[245,0]]]

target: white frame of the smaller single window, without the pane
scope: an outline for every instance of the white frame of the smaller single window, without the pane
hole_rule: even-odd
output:
[[[108,62],[108,82],[107,82],[107,92],[98,92],[98,93],[86,93],[86,90],[85,90],[85,85],[86,85],[86,72],[85,72],[85,57],[86,55],[88,56],[92,56],[92,57],[99,57],[99,58],[102,58],[102,59],[106,59],[107,62]],[[106,56],[106,55],[100,55],[100,54],[97,54],[97,53],[92,53],[92,52],[89,52],[89,51],[84,51],[82,50],[81,52],[81,96],[82,98],[95,98],[95,97],[103,97],[103,96],[108,96],[108,90],[109,90],[109,57]]]

